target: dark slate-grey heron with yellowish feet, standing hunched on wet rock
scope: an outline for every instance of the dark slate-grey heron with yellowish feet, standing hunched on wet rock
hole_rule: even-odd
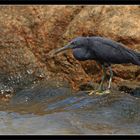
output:
[[[79,61],[95,60],[101,64],[103,77],[96,93],[110,93],[113,72],[111,64],[132,63],[140,66],[140,53],[126,48],[123,44],[104,37],[77,37],[68,45],[54,51],[53,56],[64,50],[72,49],[73,56]],[[106,78],[106,68],[109,68],[110,79],[107,90],[103,90]],[[94,93],[92,90],[90,94]]]

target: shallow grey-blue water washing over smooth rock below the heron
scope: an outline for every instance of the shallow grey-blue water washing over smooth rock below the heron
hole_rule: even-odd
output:
[[[139,134],[140,98],[38,84],[0,105],[0,134]]]

